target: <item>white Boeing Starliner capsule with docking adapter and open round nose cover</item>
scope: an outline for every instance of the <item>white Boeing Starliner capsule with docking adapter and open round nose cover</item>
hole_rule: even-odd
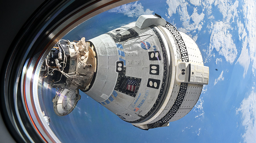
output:
[[[168,126],[197,103],[209,68],[197,44],[155,15],[88,41],[60,40],[45,59],[40,77],[58,92],[53,108],[69,114],[79,89],[140,129]]]

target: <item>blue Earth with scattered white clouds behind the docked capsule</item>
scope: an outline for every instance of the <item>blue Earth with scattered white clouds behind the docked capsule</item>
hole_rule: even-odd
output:
[[[51,91],[42,108],[55,135],[61,142],[255,142],[256,1],[141,0],[88,19],[63,39],[89,40],[155,13],[189,35],[209,67],[209,84],[191,112],[169,127],[144,131],[83,92],[71,114],[59,117]]]

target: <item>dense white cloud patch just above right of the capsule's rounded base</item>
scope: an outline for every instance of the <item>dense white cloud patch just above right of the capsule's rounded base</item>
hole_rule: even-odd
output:
[[[211,52],[213,49],[219,53],[219,55],[224,56],[227,62],[231,64],[237,57],[236,45],[232,40],[232,35],[227,29],[230,28],[229,24],[222,21],[216,22],[212,28],[212,34],[210,36],[210,45],[208,47],[207,55],[212,56]]]

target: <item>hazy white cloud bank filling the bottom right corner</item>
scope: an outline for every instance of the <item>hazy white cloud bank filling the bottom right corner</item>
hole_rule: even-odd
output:
[[[255,142],[256,140],[256,93],[252,90],[249,97],[243,99],[236,114],[242,115],[242,125],[245,133],[242,135],[244,142]]]

